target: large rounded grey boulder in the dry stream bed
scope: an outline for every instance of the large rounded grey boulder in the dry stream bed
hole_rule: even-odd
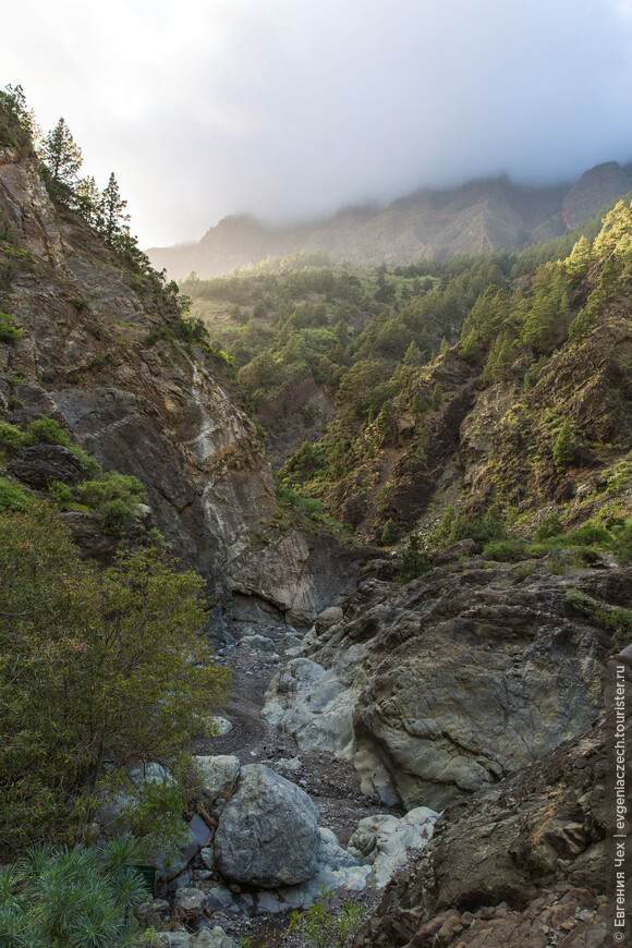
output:
[[[241,768],[215,836],[215,863],[238,883],[297,885],[317,871],[318,811],[300,787],[263,764]]]

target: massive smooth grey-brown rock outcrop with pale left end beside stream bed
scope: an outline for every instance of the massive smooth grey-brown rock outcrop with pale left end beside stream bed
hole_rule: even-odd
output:
[[[448,566],[403,587],[362,583],[264,708],[300,748],[353,759],[364,792],[409,809],[442,810],[588,728],[610,642],[566,594],[632,601],[630,570]]]

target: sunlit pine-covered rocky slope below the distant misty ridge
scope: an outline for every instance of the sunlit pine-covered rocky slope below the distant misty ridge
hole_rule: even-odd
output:
[[[619,202],[521,254],[376,271],[299,255],[182,289],[285,488],[373,543],[487,518],[494,552],[519,557],[551,513],[606,547],[629,530],[631,247]]]

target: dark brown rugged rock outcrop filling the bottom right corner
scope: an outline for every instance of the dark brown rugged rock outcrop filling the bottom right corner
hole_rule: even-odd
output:
[[[354,948],[601,948],[613,919],[607,755],[599,725],[450,806]]]

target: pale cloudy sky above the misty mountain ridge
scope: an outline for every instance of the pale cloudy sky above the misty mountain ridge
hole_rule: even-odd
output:
[[[632,0],[21,0],[8,83],[169,245],[632,161]]]

